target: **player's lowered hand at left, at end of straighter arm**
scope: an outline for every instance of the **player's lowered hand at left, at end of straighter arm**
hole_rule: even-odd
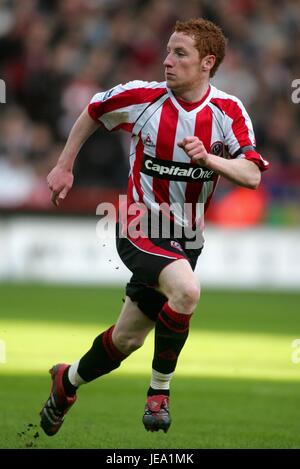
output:
[[[74,176],[72,171],[55,166],[48,174],[47,182],[49,189],[52,191],[51,201],[58,207],[73,185]]]

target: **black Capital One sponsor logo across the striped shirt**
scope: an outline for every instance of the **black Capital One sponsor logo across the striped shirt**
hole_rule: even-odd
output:
[[[190,163],[153,158],[144,153],[141,172],[148,176],[171,181],[212,181],[216,178],[214,171]]]

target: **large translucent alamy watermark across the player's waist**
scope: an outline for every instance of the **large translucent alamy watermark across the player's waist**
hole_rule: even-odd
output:
[[[203,245],[201,221],[203,203],[128,203],[126,195],[120,195],[118,207],[109,202],[100,203],[96,214],[101,216],[96,233],[100,239],[114,231],[118,221],[118,236],[132,240],[141,238],[165,238],[184,240],[187,249],[199,249]],[[179,248],[179,246],[178,246]]]

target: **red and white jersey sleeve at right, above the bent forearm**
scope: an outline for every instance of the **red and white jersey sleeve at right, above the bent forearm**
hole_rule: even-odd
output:
[[[268,169],[268,161],[256,151],[252,122],[242,102],[228,100],[225,114],[225,145],[230,157],[253,161],[261,171]]]

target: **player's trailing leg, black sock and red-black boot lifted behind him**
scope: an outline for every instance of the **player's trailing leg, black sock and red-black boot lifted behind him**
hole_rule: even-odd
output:
[[[47,435],[55,435],[60,429],[64,415],[76,400],[77,388],[118,368],[125,358],[141,347],[154,324],[135,302],[126,297],[116,325],[96,337],[81,359],[71,366],[58,364],[50,370],[50,397],[40,413],[41,427]]]

